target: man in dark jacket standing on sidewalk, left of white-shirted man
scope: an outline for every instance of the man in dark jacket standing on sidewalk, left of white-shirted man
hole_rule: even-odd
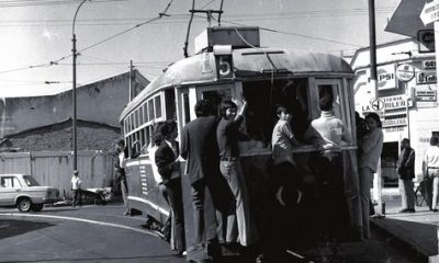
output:
[[[399,175],[399,192],[402,210],[399,213],[415,213],[415,192],[413,179],[415,178],[415,150],[410,141],[404,138],[401,141],[401,153],[397,161],[397,173]]]

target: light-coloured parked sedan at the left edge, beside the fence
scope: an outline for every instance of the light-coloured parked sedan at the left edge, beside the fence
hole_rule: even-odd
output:
[[[21,211],[41,211],[44,204],[59,201],[59,190],[41,186],[27,174],[0,174],[0,206],[16,206]]]

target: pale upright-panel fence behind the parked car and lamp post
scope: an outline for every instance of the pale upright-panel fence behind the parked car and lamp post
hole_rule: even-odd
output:
[[[71,196],[74,156],[70,151],[0,153],[0,173],[32,174],[41,185],[59,188]],[[83,188],[115,187],[114,160],[109,152],[78,151],[77,164]]]

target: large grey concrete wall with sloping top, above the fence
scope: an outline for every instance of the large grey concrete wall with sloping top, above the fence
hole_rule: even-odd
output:
[[[134,85],[148,81],[135,71]],[[128,103],[130,72],[77,88],[77,118],[119,127]],[[36,127],[61,123],[72,116],[72,92],[0,100],[0,138]]]

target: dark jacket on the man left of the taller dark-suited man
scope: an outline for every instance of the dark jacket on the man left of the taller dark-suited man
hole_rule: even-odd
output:
[[[176,155],[173,155],[171,147],[165,140],[161,141],[156,150],[155,161],[164,184],[168,183],[175,170]]]

